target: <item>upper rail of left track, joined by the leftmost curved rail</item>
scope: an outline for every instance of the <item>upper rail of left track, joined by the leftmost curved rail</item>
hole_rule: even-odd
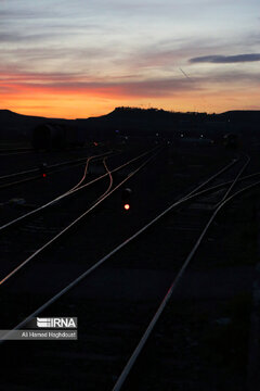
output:
[[[158,148],[156,147],[156,149],[158,149]],[[155,149],[152,149],[152,150],[150,150],[150,151],[146,151],[146,152],[142,153],[142,154],[139,155],[139,156],[135,156],[135,157],[131,159],[130,161],[128,161],[128,162],[121,164],[120,166],[112,169],[112,173],[116,173],[116,172],[122,169],[123,167],[128,166],[129,164],[133,163],[134,161],[138,161],[139,159],[143,157],[144,155],[148,154],[150,152],[153,152],[154,150],[155,150]],[[86,184],[86,185],[82,185],[82,186],[77,187],[77,188],[75,188],[75,189],[67,190],[67,191],[64,192],[63,194],[56,197],[55,199],[47,202],[47,203],[43,204],[43,205],[35,209],[34,211],[27,212],[27,213],[25,213],[24,215],[22,215],[22,216],[20,216],[20,217],[17,217],[17,218],[14,218],[14,219],[11,220],[11,222],[5,223],[4,225],[0,226],[0,232],[2,232],[4,229],[10,228],[11,226],[13,226],[13,225],[15,225],[15,224],[17,224],[17,223],[20,223],[20,222],[22,222],[23,219],[25,219],[25,218],[27,218],[27,217],[29,217],[29,216],[32,216],[32,215],[35,215],[35,214],[43,211],[43,210],[47,209],[48,206],[51,206],[51,205],[53,205],[54,203],[57,203],[57,202],[61,201],[62,199],[64,199],[64,198],[66,198],[66,197],[68,197],[68,195],[72,195],[72,194],[76,193],[77,191],[82,190],[82,189],[89,187],[90,185],[95,184],[98,180],[101,180],[101,179],[105,178],[107,175],[108,175],[108,173],[105,173],[105,174],[99,176],[98,178],[92,179],[91,181],[89,181],[89,182]]]

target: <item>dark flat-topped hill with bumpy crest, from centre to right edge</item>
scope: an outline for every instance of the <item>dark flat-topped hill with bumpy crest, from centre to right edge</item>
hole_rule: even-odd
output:
[[[78,119],[91,136],[105,137],[118,130],[121,135],[171,137],[184,130],[194,136],[205,131],[209,137],[232,133],[250,133],[259,127],[260,111],[229,111],[221,114],[170,112],[158,109],[116,108],[100,117]],[[102,136],[103,135],[103,136]]]

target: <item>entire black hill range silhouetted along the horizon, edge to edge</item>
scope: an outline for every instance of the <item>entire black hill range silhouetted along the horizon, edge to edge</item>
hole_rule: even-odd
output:
[[[116,108],[113,112],[90,118],[58,119],[29,116],[0,110],[2,139],[29,139],[31,130],[46,122],[73,125],[87,133],[89,138],[113,138],[115,135],[154,137],[173,136],[177,131],[196,134],[237,131],[249,134],[259,130],[260,111],[229,111],[221,114],[171,112],[158,109]]]

